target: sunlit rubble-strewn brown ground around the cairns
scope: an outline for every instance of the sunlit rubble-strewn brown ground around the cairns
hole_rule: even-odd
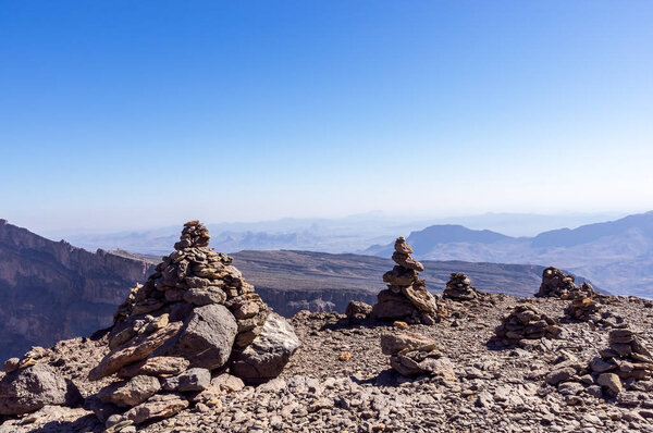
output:
[[[380,336],[391,323],[349,324],[342,314],[300,312],[292,320],[301,347],[280,378],[258,387],[234,386],[213,407],[195,405],[143,432],[653,432],[651,381],[617,398],[595,392],[589,374],[554,383],[562,364],[586,368],[607,347],[608,329],[562,319],[557,339],[516,347],[489,343],[502,318],[523,302],[564,318],[568,300],[489,295],[480,302],[446,300],[448,314],[435,325],[410,331],[439,342],[454,363],[456,380],[404,378],[390,369]],[[607,297],[600,304],[623,317],[652,346],[653,304]],[[106,336],[60,342],[47,362],[71,379],[84,396],[104,385],[88,371],[106,355]],[[106,379],[107,383],[110,379]],[[549,383],[547,383],[549,382]],[[47,406],[5,418],[0,432],[101,432],[91,412]],[[134,429],[134,430],[131,430]],[[135,428],[123,429],[135,431]]]

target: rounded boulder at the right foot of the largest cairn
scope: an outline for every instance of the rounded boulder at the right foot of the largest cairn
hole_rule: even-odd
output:
[[[299,338],[293,326],[272,312],[254,342],[235,354],[232,372],[247,383],[261,383],[276,378],[298,347]]]

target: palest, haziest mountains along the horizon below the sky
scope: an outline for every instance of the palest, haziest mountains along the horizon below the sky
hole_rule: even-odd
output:
[[[292,249],[320,252],[362,252],[370,245],[385,244],[398,234],[426,226],[455,223],[470,228],[488,228],[508,235],[537,234],[560,226],[605,221],[609,214],[540,215],[532,213],[485,213],[455,218],[392,216],[369,212],[340,219],[283,219],[254,223],[207,224],[211,245],[220,251]],[[178,236],[176,226],[119,233],[51,233],[89,250],[124,249],[138,253],[167,255]]]

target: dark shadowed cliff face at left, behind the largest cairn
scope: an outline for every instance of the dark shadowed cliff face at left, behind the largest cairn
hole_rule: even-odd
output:
[[[0,357],[88,335],[152,265],[52,242],[0,220]]]

